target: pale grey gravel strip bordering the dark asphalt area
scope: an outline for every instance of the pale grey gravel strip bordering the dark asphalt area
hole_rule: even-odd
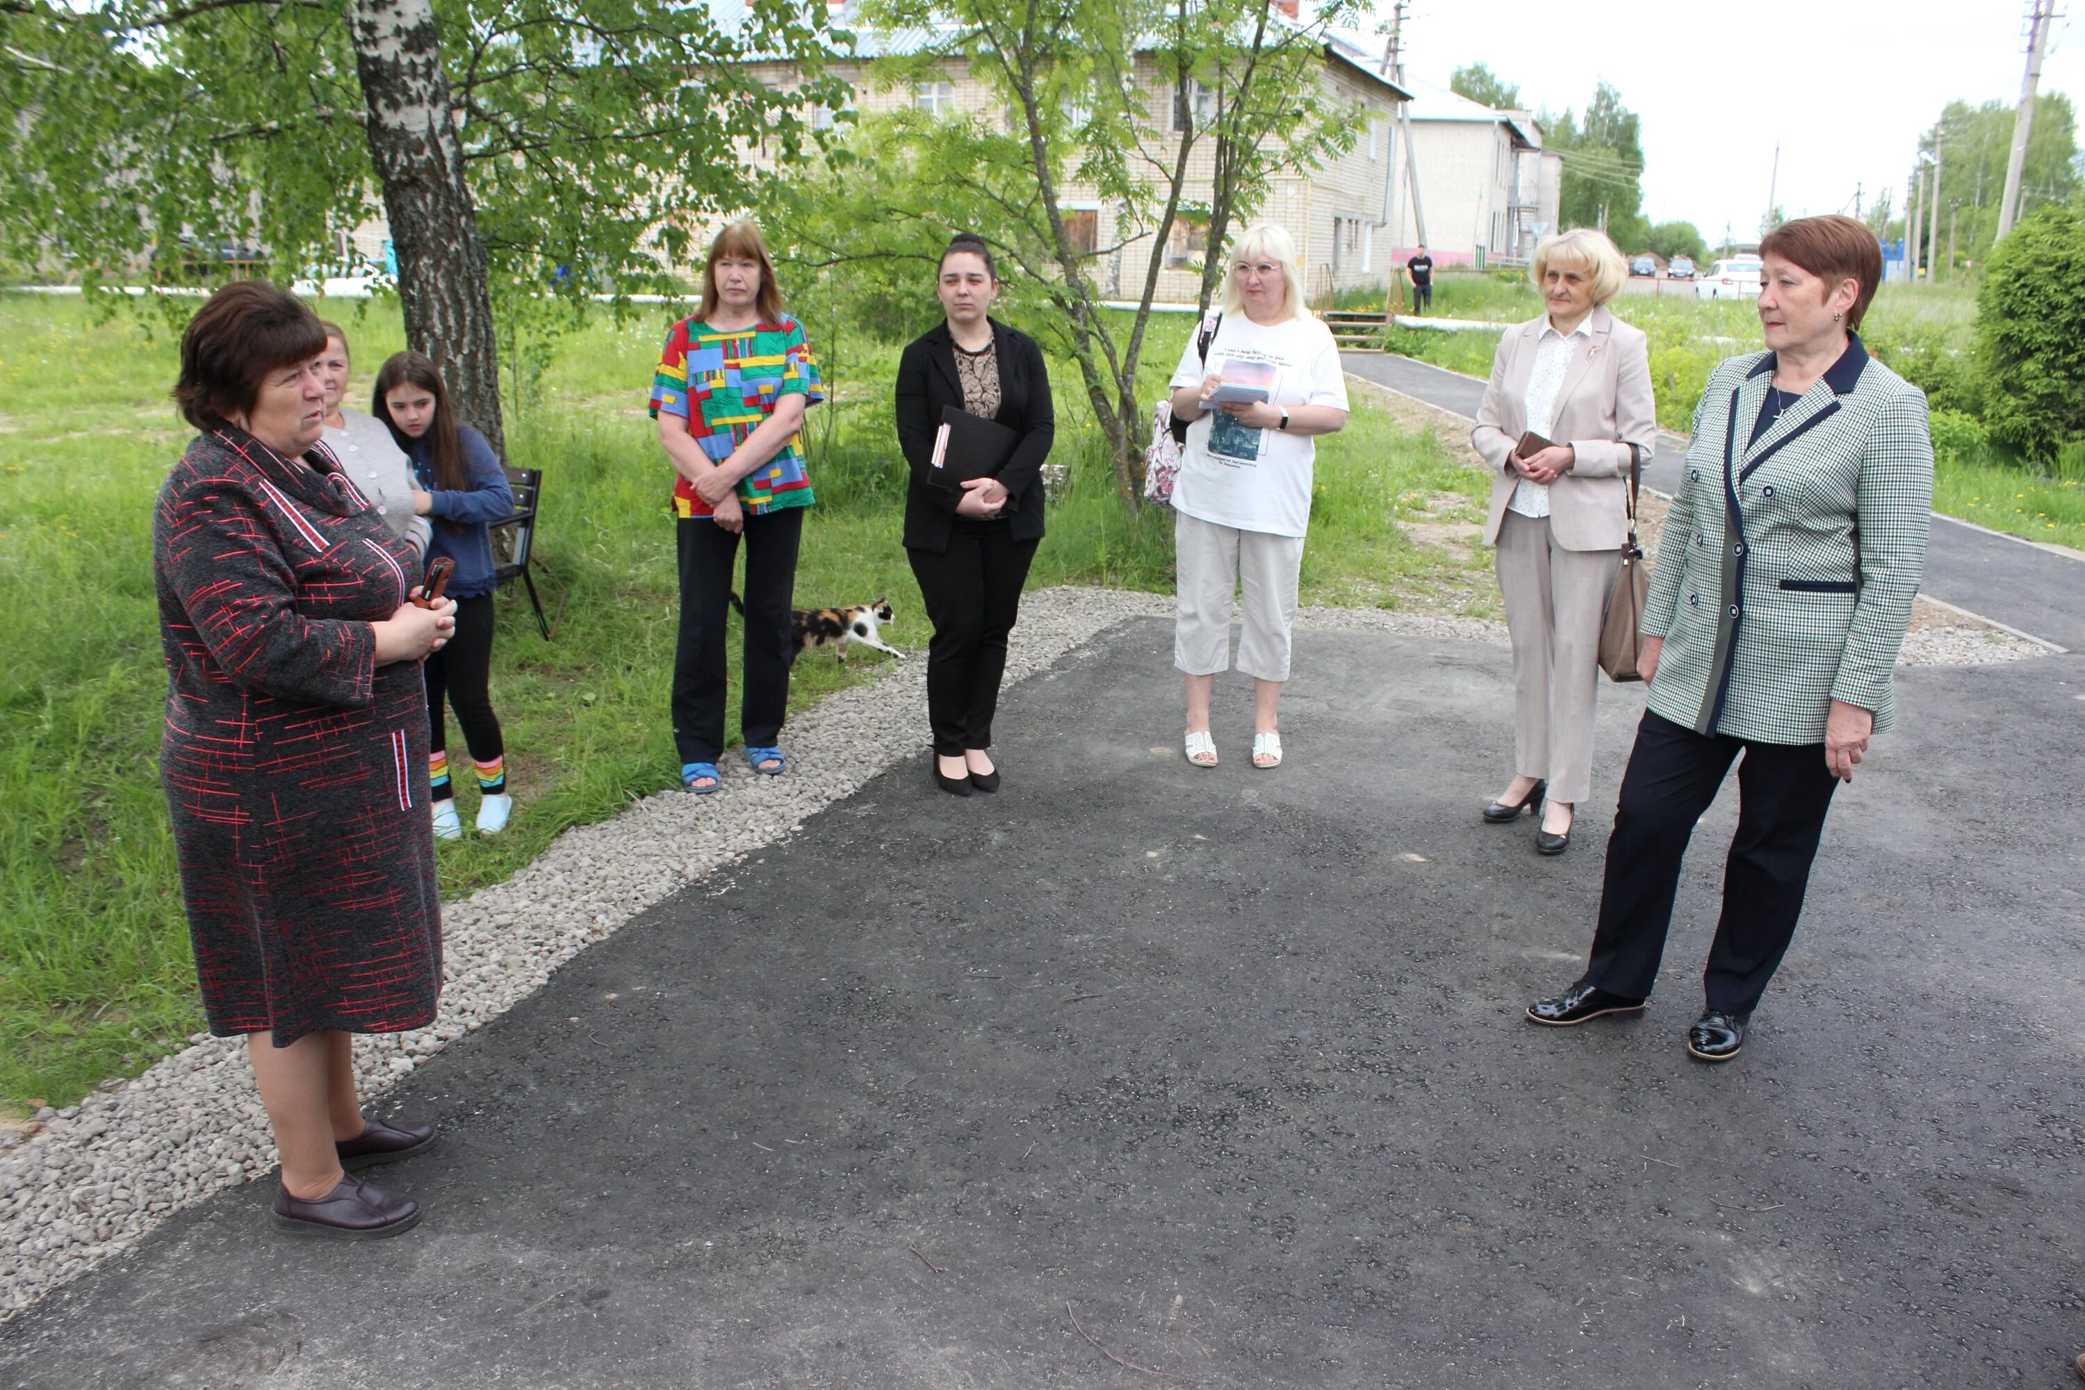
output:
[[[1172,617],[1174,600],[1097,588],[1028,594],[1007,681],[1057,663],[1132,617]],[[1501,623],[1376,609],[1303,609],[1305,629],[1389,631],[1505,644]],[[2025,648],[2025,650],[2014,650]],[[1906,638],[1906,665],[1970,665],[2043,654],[2006,634],[1935,627]],[[826,696],[788,727],[790,771],[723,767],[713,796],[661,792],[559,836],[505,884],[442,907],[444,990],[432,1027],[357,1042],[357,1079],[375,1102],[421,1061],[528,998],[586,946],[634,915],[803,827],[892,763],[924,763],[926,661]],[[121,1255],[163,1219],[275,1169],[267,1117],[238,1038],[198,1034],[133,1082],[106,1082],[0,1152],[0,1321]],[[379,1107],[371,1107],[379,1109]]]

